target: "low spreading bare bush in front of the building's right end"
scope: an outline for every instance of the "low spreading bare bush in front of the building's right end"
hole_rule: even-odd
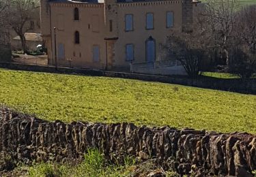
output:
[[[208,42],[205,39],[205,31],[192,33],[173,32],[167,37],[167,42],[163,46],[165,58],[180,61],[186,73],[191,78],[199,75],[203,67],[203,60],[207,57]]]

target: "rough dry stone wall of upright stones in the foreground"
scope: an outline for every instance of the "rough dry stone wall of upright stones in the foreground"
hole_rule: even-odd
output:
[[[48,122],[0,108],[0,151],[18,161],[65,161],[99,148],[107,159],[156,159],[165,170],[197,176],[253,176],[256,136],[131,123]]]

